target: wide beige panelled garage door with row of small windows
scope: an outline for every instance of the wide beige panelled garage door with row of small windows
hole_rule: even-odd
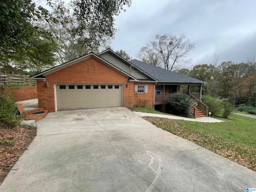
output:
[[[57,110],[122,106],[122,85],[56,85]]]

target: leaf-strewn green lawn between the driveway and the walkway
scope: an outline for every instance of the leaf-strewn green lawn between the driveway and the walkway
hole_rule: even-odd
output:
[[[232,114],[221,123],[145,117],[157,127],[256,171],[256,119]]]

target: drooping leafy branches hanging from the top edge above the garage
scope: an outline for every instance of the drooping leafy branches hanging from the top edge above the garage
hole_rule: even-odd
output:
[[[68,41],[74,40],[71,46],[82,52],[95,50],[104,39],[114,38],[114,16],[131,4],[131,0],[71,0],[68,4],[63,0],[48,1],[58,11],[56,20],[72,37]]]

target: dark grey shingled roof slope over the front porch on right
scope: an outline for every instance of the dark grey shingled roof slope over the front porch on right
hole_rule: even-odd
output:
[[[170,83],[192,83],[192,84],[205,84],[206,82],[179,74],[170,70],[160,68],[139,60],[131,60],[132,64],[149,74],[150,76],[157,79],[159,82],[170,82]]]

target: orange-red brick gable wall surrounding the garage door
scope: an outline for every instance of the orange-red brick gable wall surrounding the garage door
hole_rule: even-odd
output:
[[[134,85],[129,82],[128,78],[102,64],[94,58],[88,58],[76,64],[53,72],[45,76],[46,81],[37,82],[38,107],[55,111],[54,104],[54,84],[123,84],[124,87],[124,107],[134,105]],[[46,82],[49,87],[46,87]],[[148,86],[150,92],[151,86]],[[152,92],[152,90],[151,90]],[[149,94],[147,94],[149,95]],[[151,96],[152,99],[153,95]],[[142,97],[143,98],[143,97]],[[150,98],[148,96],[148,98]]]

